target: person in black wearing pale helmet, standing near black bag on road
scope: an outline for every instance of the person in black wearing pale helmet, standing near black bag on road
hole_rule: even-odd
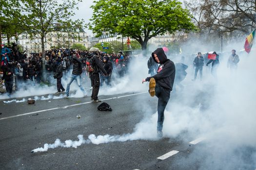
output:
[[[93,47],[89,50],[89,52],[91,52],[91,55],[89,55],[87,58],[91,58],[92,67],[94,68],[94,71],[91,74],[92,75],[91,79],[92,79],[92,83],[93,83],[93,91],[92,91],[92,95],[91,95],[91,100],[93,102],[101,102],[100,100],[98,100],[98,91],[99,91],[99,85],[100,85],[99,71],[101,70],[103,72],[104,76],[107,76],[108,73],[104,69],[102,63],[100,62],[100,60],[98,58],[99,49]]]

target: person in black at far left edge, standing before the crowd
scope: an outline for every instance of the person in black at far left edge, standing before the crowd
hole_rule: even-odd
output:
[[[13,90],[13,70],[6,65],[2,65],[1,69],[3,71],[3,76],[0,83],[4,81],[6,92],[8,93],[8,97],[10,97]]]

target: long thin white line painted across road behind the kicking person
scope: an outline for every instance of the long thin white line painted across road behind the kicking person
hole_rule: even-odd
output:
[[[134,96],[134,95],[139,95],[139,94],[144,94],[144,93],[148,93],[148,92],[142,92],[142,93],[130,94],[130,95],[119,96],[119,97],[114,97],[114,98],[109,98],[109,99],[103,99],[101,101],[119,99],[119,98],[123,98],[123,97]],[[0,120],[15,118],[15,117],[19,117],[19,116],[25,116],[25,115],[31,115],[31,114],[34,114],[34,113],[46,112],[46,111],[56,110],[56,109],[66,109],[68,107],[73,107],[73,106],[78,106],[78,105],[88,104],[88,103],[92,103],[92,102],[82,102],[82,103],[67,105],[67,106],[63,106],[63,107],[55,107],[55,108],[51,108],[51,109],[39,110],[39,111],[35,111],[35,112],[29,112],[29,113],[24,113],[24,114],[20,114],[20,115],[14,115],[14,116],[9,116],[9,117],[5,117],[5,118],[0,118]]]

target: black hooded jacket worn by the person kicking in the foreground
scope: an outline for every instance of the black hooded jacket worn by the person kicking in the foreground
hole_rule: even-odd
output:
[[[158,73],[152,77],[147,77],[146,81],[154,78],[158,85],[172,91],[175,78],[175,64],[171,60],[167,59],[167,56],[165,55],[162,48],[158,48],[152,53],[152,58],[156,63],[158,63],[154,54],[157,54],[159,59],[160,66],[158,67]]]

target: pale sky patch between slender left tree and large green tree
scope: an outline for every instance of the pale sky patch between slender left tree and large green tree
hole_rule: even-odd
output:
[[[93,14],[93,10],[90,8],[90,6],[93,5],[93,1],[94,0],[83,0],[82,2],[79,2],[79,10],[74,11],[76,15],[73,18],[84,19],[85,23],[88,23]],[[86,29],[84,31],[88,33],[88,35],[92,35],[92,31]]]

